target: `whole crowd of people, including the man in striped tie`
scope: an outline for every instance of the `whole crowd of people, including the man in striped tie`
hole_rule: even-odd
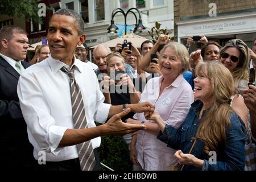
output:
[[[84,21],[61,9],[49,20],[48,44],[26,63],[26,31],[3,27],[1,163],[96,171],[101,137],[121,135],[135,171],[256,170],[256,38],[250,49],[240,39],[221,47],[200,37],[195,51],[193,37],[183,45],[167,35],[139,48],[99,45],[92,63]]]

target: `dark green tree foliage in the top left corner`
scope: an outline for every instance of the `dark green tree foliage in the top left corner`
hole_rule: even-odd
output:
[[[46,10],[49,9],[49,7],[46,8]],[[2,15],[17,16],[25,18],[27,21],[32,19],[35,23],[40,23],[38,10],[37,0],[0,0],[0,14]]]

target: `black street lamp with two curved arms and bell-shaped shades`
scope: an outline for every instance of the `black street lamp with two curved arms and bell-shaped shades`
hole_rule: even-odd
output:
[[[137,19],[137,16],[136,16],[136,14],[134,13],[133,10],[136,10],[138,12],[139,20]],[[114,16],[117,13],[122,13],[123,16],[125,16],[125,35],[127,33],[127,31],[126,31],[126,27],[127,27],[126,18],[127,18],[127,14],[129,14],[129,13],[132,13],[135,16],[135,19],[136,19],[136,25],[135,25],[135,28],[134,28],[134,31],[133,31],[134,33],[135,32],[142,32],[143,29],[146,29],[142,24],[141,13],[139,13],[138,9],[136,9],[135,7],[132,7],[128,11],[126,11],[126,13],[125,13],[125,11],[123,11],[121,8],[116,8],[112,11],[111,24],[108,28],[108,30],[109,30],[108,33],[112,33],[112,34],[117,33],[118,27],[115,25],[115,22],[114,22]]]

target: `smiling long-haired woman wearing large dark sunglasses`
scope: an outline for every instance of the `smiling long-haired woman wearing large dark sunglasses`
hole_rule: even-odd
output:
[[[232,73],[240,94],[248,88],[249,58],[249,49],[240,39],[229,40],[220,51],[220,61]]]

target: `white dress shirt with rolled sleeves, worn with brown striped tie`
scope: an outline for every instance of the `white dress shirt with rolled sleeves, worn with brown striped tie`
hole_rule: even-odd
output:
[[[60,70],[68,65],[49,56],[23,72],[18,82],[18,96],[28,138],[34,146],[34,157],[38,159],[46,151],[46,161],[61,161],[78,158],[76,146],[57,147],[67,129],[73,129],[69,77]],[[75,59],[75,79],[79,84],[88,127],[94,121],[104,123],[108,118],[109,104],[89,64]],[[72,65],[72,66],[73,66]],[[93,148],[100,146],[101,138],[92,139]],[[39,153],[40,152],[40,153]],[[40,155],[39,155],[40,154]]]

